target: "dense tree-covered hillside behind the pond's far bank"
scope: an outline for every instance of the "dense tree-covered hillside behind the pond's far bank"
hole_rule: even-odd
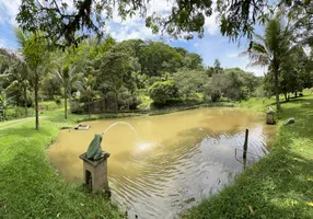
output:
[[[77,48],[49,53],[44,53],[43,45],[33,49],[43,53],[32,62],[37,53],[28,44],[35,36],[18,33],[23,57],[3,50],[1,92],[7,95],[1,96],[8,96],[5,107],[11,103],[24,106],[25,112],[38,101],[59,103],[60,99],[65,99],[66,118],[68,101],[73,113],[140,110],[149,97],[158,107],[217,102],[220,97],[239,101],[254,95],[262,82],[239,68],[223,69],[219,60],[205,67],[198,54],[141,39],[116,43],[107,37],[98,43],[91,38]],[[36,90],[37,101],[33,95]]]

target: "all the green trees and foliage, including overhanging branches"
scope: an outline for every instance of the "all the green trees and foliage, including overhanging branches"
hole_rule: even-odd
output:
[[[276,94],[279,110],[279,94],[288,101],[291,92],[298,95],[312,87],[310,0],[217,2],[221,33],[233,39],[242,35],[252,38],[244,54],[252,65],[268,67],[264,79],[239,68],[223,69],[219,60],[206,67],[198,54],[162,42],[85,38],[85,31],[102,34],[103,14],[112,18],[115,7],[124,19],[137,12],[148,15],[147,26],[154,33],[201,36],[205,18],[212,13],[211,1],[174,1],[164,18],[144,13],[149,0],[114,3],[73,1],[70,10],[62,1],[21,2],[16,16],[23,30],[16,30],[21,48],[19,53],[0,50],[2,120],[27,116],[34,105],[38,128],[38,102],[60,103],[61,99],[65,118],[68,102],[70,112],[91,114],[149,110],[151,102],[160,107]],[[253,34],[256,23],[266,25],[264,36]]]

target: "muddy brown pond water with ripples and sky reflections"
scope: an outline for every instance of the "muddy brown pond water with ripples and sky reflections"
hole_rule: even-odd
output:
[[[267,152],[274,126],[265,116],[234,108],[201,108],[125,118],[107,130],[102,148],[111,153],[112,198],[129,218],[176,218],[217,193],[243,170],[242,146],[250,129],[247,164]],[[116,119],[90,122],[90,130],[63,130],[49,148],[51,163],[68,182],[82,181],[82,161],[94,134]],[[268,146],[267,146],[268,147]],[[235,154],[235,149],[239,149]]]

